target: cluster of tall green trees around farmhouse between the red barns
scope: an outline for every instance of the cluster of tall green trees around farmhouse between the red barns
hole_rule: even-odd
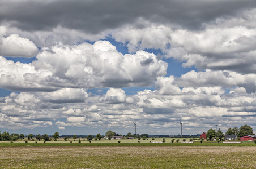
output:
[[[241,126],[240,128],[238,127],[228,128],[227,132],[225,132],[225,135],[237,135],[237,137],[243,137],[246,135],[254,135],[254,133],[253,133],[253,128],[251,128],[251,126],[244,125],[244,126]],[[220,130],[220,128],[217,132],[216,130],[211,128],[207,131],[206,137],[208,137],[210,140],[212,138],[221,139],[221,138],[225,138],[225,135]]]

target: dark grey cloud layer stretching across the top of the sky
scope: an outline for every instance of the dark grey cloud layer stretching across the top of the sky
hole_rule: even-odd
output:
[[[202,23],[229,17],[256,1],[1,1],[0,22],[22,30],[52,30],[56,26],[99,33],[137,19],[200,29]],[[143,26],[137,23],[135,26]]]

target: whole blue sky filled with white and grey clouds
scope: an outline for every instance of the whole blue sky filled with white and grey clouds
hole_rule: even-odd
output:
[[[256,131],[255,27],[255,0],[2,0],[0,132]]]

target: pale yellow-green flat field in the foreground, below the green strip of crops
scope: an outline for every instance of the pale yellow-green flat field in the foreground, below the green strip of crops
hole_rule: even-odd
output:
[[[256,168],[256,147],[2,147],[0,168]]]

